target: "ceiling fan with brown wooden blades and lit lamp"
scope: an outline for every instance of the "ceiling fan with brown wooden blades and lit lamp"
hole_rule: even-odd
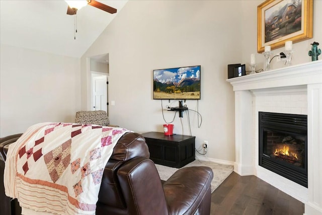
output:
[[[103,11],[106,11],[110,14],[115,14],[117,10],[115,8],[112,8],[110,6],[104,5],[100,2],[97,2],[95,0],[83,0],[83,1],[65,1],[68,4],[67,8],[67,14],[68,15],[75,15],[77,13],[77,10],[81,9],[82,7],[86,5],[93,6],[95,8],[101,9]]]

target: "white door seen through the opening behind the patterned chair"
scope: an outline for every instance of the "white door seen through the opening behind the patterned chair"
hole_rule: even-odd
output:
[[[107,112],[107,76],[93,78],[93,109]]]

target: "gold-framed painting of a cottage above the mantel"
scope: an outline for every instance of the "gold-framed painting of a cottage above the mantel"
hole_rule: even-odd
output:
[[[313,36],[313,0],[267,0],[257,7],[257,51]]]

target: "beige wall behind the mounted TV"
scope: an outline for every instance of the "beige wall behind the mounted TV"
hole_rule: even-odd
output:
[[[201,100],[190,111],[196,147],[209,141],[207,156],[234,160],[234,100],[226,83],[227,64],[241,60],[240,1],[129,1],[82,57],[83,107],[86,58],[109,53],[110,121],[136,132],[163,132],[161,101],[152,99],[152,70],[201,65]],[[164,100],[178,106],[178,101]],[[187,106],[197,110],[196,101]],[[165,111],[171,121],[174,112]],[[182,132],[181,120],[184,131]],[[178,114],[174,132],[189,134],[188,116]]]

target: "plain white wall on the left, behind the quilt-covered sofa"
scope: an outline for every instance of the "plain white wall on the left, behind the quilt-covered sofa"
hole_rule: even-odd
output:
[[[0,136],[38,122],[74,122],[80,109],[78,58],[1,45]]]

